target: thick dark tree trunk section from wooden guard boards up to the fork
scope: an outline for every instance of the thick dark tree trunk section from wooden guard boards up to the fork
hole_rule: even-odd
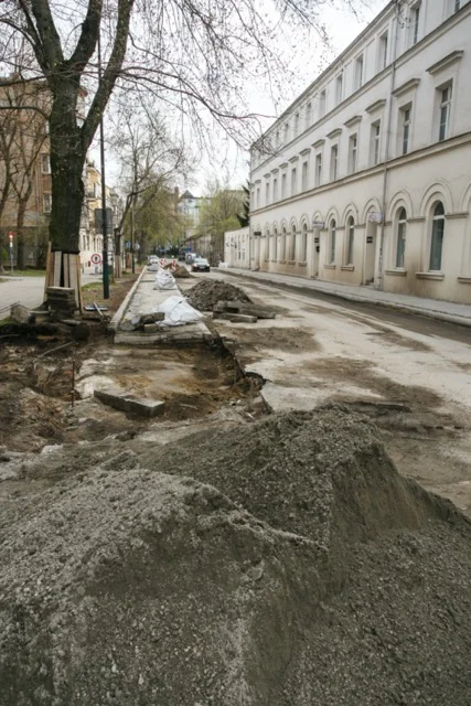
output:
[[[50,117],[52,210],[50,237],[53,250],[79,252],[79,228],[86,149],[77,126],[79,84],[71,78],[54,81]]]

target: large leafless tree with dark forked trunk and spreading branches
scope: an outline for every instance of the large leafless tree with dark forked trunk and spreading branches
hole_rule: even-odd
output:
[[[318,18],[322,4],[324,0],[2,2],[0,61],[15,65],[10,54],[22,38],[32,50],[23,75],[44,77],[52,95],[53,249],[78,252],[83,165],[116,85],[127,90],[128,99],[143,88],[152,92],[174,117],[183,116],[183,127],[192,122],[201,143],[211,142],[213,121],[246,145],[257,121],[244,116],[244,82],[268,76],[272,66],[280,69],[280,46],[274,39],[283,22],[310,25],[325,39]],[[100,34],[103,73],[97,65]],[[244,131],[234,120],[243,116],[251,118]]]

